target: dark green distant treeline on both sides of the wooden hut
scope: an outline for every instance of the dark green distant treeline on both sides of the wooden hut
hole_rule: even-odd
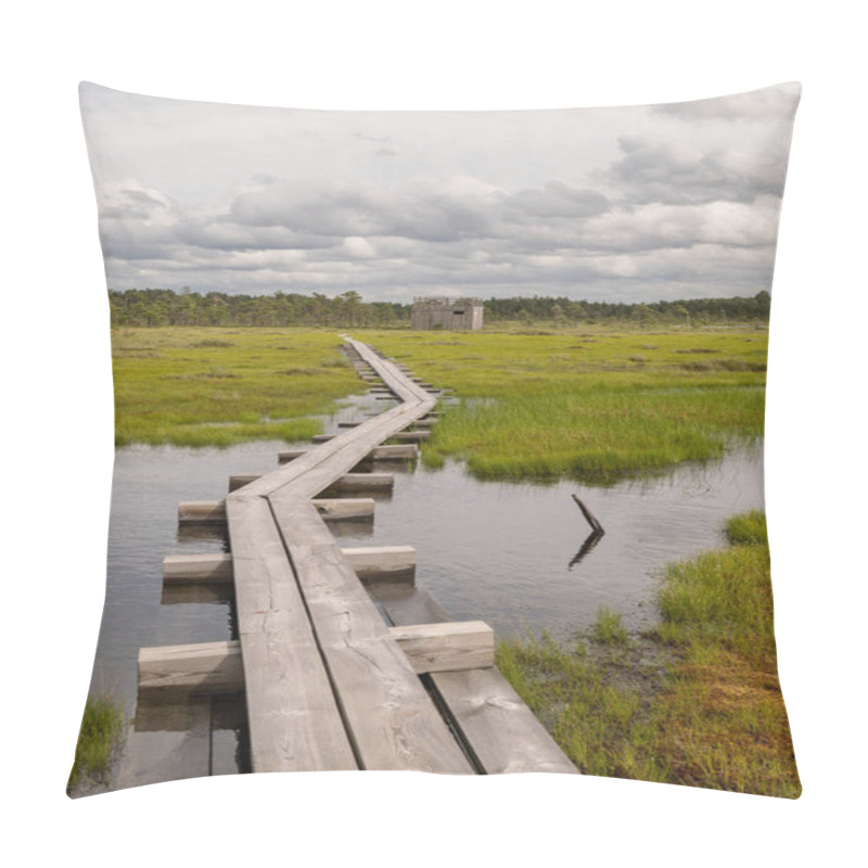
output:
[[[678,302],[625,304],[574,302],[560,297],[488,298],[485,322],[540,322],[575,326],[582,322],[682,323],[768,322],[767,292],[736,298],[691,298]],[[230,295],[182,290],[108,291],[113,326],[327,326],[339,328],[409,328],[412,305],[365,302],[349,291],[333,298],[321,293],[301,295]]]

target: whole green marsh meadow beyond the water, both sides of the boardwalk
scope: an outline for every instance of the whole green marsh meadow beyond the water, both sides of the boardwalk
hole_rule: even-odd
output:
[[[762,434],[762,329],[360,331],[462,403],[424,448],[480,478],[609,483]],[[116,443],[306,439],[360,381],[340,337],[299,329],[113,331]]]

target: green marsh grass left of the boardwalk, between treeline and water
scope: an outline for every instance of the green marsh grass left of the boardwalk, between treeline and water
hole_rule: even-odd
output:
[[[229,446],[306,439],[359,388],[341,339],[293,329],[112,332],[115,442]]]

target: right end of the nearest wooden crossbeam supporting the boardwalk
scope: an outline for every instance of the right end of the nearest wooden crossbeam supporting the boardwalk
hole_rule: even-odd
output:
[[[390,634],[420,675],[495,665],[495,634],[484,621],[391,627]]]

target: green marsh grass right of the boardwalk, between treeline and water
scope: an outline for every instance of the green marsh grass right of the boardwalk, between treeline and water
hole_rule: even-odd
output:
[[[611,483],[719,457],[763,432],[767,333],[718,331],[358,335],[464,400],[425,446],[478,478]]]

